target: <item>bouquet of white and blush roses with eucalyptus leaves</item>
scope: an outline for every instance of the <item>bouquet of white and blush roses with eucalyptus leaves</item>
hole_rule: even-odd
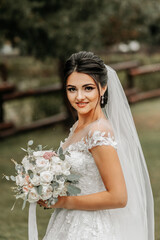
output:
[[[26,202],[36,203],[39,199],[45,200],[48,207],[55,204],[58,196],[77,195],[81,190],[75,186],[79,175],[72,172],[71,165],[66,159],[69,152],[63,153],[60,147],[55,153],[44,150],[42,145],[32,149],[33,141],[27,144],[26,153],[21,164],[15,160],[16,176],[5,176],[7,180],[15,181],[13,187],[16,199],[23,199],[22,209]],[[13,206],[14,208],[14,206]]]

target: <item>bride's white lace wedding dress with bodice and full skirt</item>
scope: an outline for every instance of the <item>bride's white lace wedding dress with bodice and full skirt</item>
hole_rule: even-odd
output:
[[[112,128],[107,119],[101,118],[75,133],[77,124],[78,121],[60,146],[70,152],[68,161],[72,170],[81,175],[77,185],[81,188],[80,195],[104,191],[106,188],[89,149],[101,145],[116,148]],[[43,240],[119,240],[118,235],[109,210],[55,209]]]

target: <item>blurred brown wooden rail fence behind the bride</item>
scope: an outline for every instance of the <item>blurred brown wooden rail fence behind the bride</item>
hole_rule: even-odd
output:
[[[136,76],[150,74],[160,71],[160,64],[139,66],[138,61],[127,61],[110,65],[116,71],[125,71],[127,75],[127,89],[125,90],[126,96],[130,104],[160,97],[160,88],[151,90],[148,92],[138,92],[134,85],[134,79]],[[15,127],[13,122],[4,121],[4,102],[14,101],[16,99],[22,99],[27,97],[37,97],[40,95],[55,94],[57,92],[62,93],[62,84],[57,83],[47,87],[41,87],[35,90],[18,91],[13,84],[7,82],[5,78],[0,85],[0,139],[9,135],[13,135],[19,132],[24,132],[40,127],[53,125],[57,122],[65,122],[69,117],[68,109],[66,112],[56,114],[54,116],[44,118],[28,124],[22,127]]]

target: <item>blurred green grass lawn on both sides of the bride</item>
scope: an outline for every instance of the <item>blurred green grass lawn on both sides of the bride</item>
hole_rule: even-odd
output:
[[[155,201],[156,240],[160,240],[160,99],[139,103],[132,106],[132,113],[140,137],[148,170],[151,178]],[[48,145],[57,149],[60,140],[67,136],[67,132],[61,125],[47,129],[32,131],[23,135],[14,136],[0,142],[0,176],[14,174],[14,166],[10,161],[14,158],[21,161],[24,152],[20,147],[25,147],[29,139],[35,144]],[[0,180],[0,240],[26,240],[28,204],[25,210],[21,210],[22,201],[19,200],[15,209],[11,211],[14,203],[11,183]],[[37,208],[39,239],[42,239],[49,217],[50,210]]]

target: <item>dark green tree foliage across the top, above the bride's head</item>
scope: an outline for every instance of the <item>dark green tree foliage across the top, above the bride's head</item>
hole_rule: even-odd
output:
[[[66,59],[131,39],[160,42],[160,0],[2,0],[0,43],[23,54]]]

